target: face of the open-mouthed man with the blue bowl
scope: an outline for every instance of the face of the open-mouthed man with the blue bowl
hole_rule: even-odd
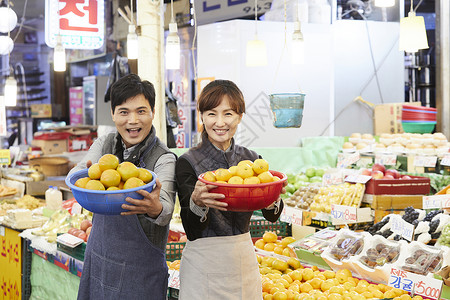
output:
[[[152,129],[153,118],[154,111],[142,94],[117,105],[112,113],[117,131],[127,148],[139,144],[147,137]]]

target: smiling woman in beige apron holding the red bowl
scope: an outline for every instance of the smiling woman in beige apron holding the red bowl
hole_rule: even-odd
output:
[[[227,211],[227,204],[220,201],[225,196],[210,193],[215,186],[197,180],[206,171],[260,158],[234,143],[245,112],[244,97],[233,82],[215,80],[203,89],[197,108],[203,122],[202,142],[178,159],[175,170],[188,238],[180,266],[180,299],[262,299],[249,233],[252,212]],[[280,199],[262,212],[275,222],[282,209]]]

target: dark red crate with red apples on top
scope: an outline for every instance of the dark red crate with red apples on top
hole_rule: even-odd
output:
[[[410,176],[412,179],[371,179],[366,183],[366,194],[372,195],[428,195],[430,178]]]

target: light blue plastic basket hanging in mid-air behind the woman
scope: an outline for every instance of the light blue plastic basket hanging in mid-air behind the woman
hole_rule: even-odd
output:
[[[270,109],[273,113],[273,125],[278,128],[298,128],[302,126],[305,94],[271,94]]]

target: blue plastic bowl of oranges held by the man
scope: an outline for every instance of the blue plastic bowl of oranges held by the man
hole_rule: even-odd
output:
[[[78,203],[85,209],[102,215],[120,215],[121,212],[127,211],[122,208],[122,204],[130,204],[125,201],[125,198],[131,197],[133,199],[142,199],[142,195],[136,193],[139,190],[146,190],[151,192],[155,187],[156,174],[150,171],[153,180],[146,185],[117,191],[96,191],[87,190],[75,186],[75,182],[83,177],[88,177],[88,169],[77,171],[66,177],[66,184],[72,189],[72,194]]]

